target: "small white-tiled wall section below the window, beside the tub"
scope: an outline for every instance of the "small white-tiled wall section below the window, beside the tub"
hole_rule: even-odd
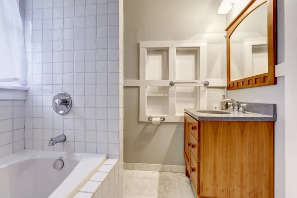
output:
[[[24,101],[0,101],[0,158],[24,150]]]

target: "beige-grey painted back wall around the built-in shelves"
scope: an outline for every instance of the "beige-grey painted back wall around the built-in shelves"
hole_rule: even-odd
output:
[[[225,79],[226,16],[217,14],[219,5],[219,0],[124,0],[124,79],[139,79],[139,42],[170,40],[206,40],[207,77]],[[214,91],[208,107],[221,99],[220,90]],[[124,95],[124,161],[183,165],[183,124],[139,122],[139,88],[125,87]]]

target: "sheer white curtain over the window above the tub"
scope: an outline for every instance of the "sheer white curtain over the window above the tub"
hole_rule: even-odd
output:
[[[17,0],[0,0],[0,83],[25,85],[26,54]]]

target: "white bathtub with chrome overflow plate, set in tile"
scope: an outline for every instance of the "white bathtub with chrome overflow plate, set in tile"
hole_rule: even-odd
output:
[[[53,162],[63,157],[64,167]],[[71,198],[105,155],[24,150],[0,159],[0,198]]]

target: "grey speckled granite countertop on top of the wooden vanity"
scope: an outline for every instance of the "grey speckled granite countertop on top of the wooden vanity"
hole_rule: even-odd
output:
[[[213,109],[209,109],[213,110]],[[218,110],[223,111],[223,110]],[[199,121],[276,121],[275,115],[263,115],[258,113],[246,112],[232,114],[211,114],[211,113],[199,113],[197,109],[185,108],[185,112]],[[226,112],[226,110],[224,110]]]

